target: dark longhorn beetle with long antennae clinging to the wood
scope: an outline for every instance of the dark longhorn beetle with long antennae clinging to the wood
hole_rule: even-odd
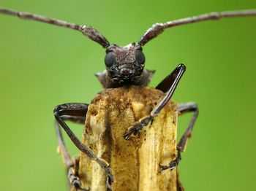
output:
[[[116,88],[121,86],[137,85],[137,86],[147,86],[151,79],[154,71],[149,71],[144,69],[145,55],[143,54],[142,47],[149,42],[154,37],[165,31],[166,28],[171,28],[173,26],[185,25],[188,23],[195,23],[203,20],[218,20],[222,17],[244,17],[244,16],[256,16],[256,9],[242,10],[242,11],[227,11],[227,12],[211,12],[205,15],[198,15],[194,17],[187,17],[180,20],[173,20],[167,23],[156,23],[151,28],[148,28],[145,34],[136,43],[128,44],[126,47],[120,47],[116,44],[110,44],[108,40],[97,31],[97,29],[91,26],[80,26],[74,23],[67,23],[66,21],[56,20],[49,17],[44,17],[41,15],[34,15],[29,12],[17,12],[11,9],[0,8],[0,13],[6,15],[14,15],[26,20],[37,20],[43,23],[49,23],[56,26],[63,26],[66,28],[75,29],[82,32],[89,39],[101,44],[105,48],[105,66],[106,70],[102,73],[98,73],[97,77],[104,88]],[[166,93],[162,101],[159,101],[157,106],[151,111],[151,114],[141,118],[135,125],[129,127],[127,133],[124,133],[124,139],[128,140],[131,136],[137,136],[140,130],[146,125],[151,123],[157,114],[162,110],[162,108],[170,101],[179,80],[186,67],[184,64],[179,64],[176,69],[174,69],[162,82],[155,87],[158,90],[162,90]],[[84,123],[86,120],[86,112],[88,110],[89,104],[61,104],[56,106],[54,109],[54,115],[56,117],[56,132],[59,140],[59,148],[64,155],[64,164],[67,166],[69,182],[75,186],[78,190],[87,190],[81,187],[80,180],[76,174],[74,174],[74,162],[69,156],[67,149],[64,145],[64,140],[61,136],[61,128],[63,128],[72,142],[75,144],[81,152],[84,152],[91,160],[96,161],[99,166],[105,171],[107,176],[106,188],[111,190],[111,184],[113,183],[113,175],[111,173],[110,166],[105,163],[105,160],[94,155],[94,152],[82,144],[80,140],[72,133],[68,125],[64,120],[70,120],[72,122]],[[181,160],[181,151],[184,150],[187,139],[189,139],[192,133],[192,128],[195,124],[195,120],[198,115],[197,104],[187,103],[178,104],[178,112],[181,114],[185,112],[193,112],[192,120],[190,120],[188,128],[185,130],[181,140],[178,142],[177,152],[178,155],[175,160],[170,161],[169,165],[160,166],[160,170],[164,171],[166,169],[172,170],[176,168]]]

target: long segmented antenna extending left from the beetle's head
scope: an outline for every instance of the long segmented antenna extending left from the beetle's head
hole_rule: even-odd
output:
[[[97,42],[102,45],[102,47],[107,48],[110,43],[108,40],[97,31],[97,29],[93,28],[92,26],[80,26],[78,24],[74,23],[68,23],[64,20],[57,20],[50,17],[45,17],[42,15],[35,15],[29,12],[18,12],[12,9],[5,9],[0,7],[0,13],[6,14],[6,15],[14,15],[17,17],[20,17],[21,19],[25,20],[37,20],[42,23],[48,23],[55,26],[63,26],[66,28],[75,29],[77,31],[82,32],[84,35],[88,36],[89,39],[93,40],[94,42]]]

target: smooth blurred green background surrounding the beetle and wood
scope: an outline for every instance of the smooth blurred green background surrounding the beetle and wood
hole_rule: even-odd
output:
[[[212,11],[256,8],[256,1],[0,0],[1,7],[89,24],[111,43],[136,42],[153,23]],[[105,50],[77,31],[0,15],[1,190],[67,190],[56,153],[53,108],[89,103],[102,87]],[[173,99],[200,115],[179,165],[187,190],[256,190],[256,17],[171,28],[144,47],[151,86],[178,63],[187,71]],[[178,133],[192,115],[181,117]],[[81,135],[83,128],[72,125]],[[72,154],[78,150],[68,141]]]

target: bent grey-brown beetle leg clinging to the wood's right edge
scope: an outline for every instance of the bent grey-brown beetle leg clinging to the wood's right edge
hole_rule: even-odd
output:
[[[168,168],[170,168],[170,170],[173,170],[173,168],[176,168],[178,163],[181,161],[181,152],[185,151],[187,141],[190,138],[193,127],[195,125],[195,120],[197,120],[197,116],[198,116],[197,104],[192,103],[192,102],[184,103],[184,104],[178,104],[177,110],[181,114],[184,114],[184,113],[187,113],[187,112],[193,112],[194,114],[193,114],[192,119],[189,122],[189,126],[187,127],[187,129],[185,130],[183,135],[181,136],[181,140],[178,142],[178,146],[177,146],[178,155],[177,155],[177,157],[174,160],[170,161],[169,165],[160,165],[160,171],[166,170]]]

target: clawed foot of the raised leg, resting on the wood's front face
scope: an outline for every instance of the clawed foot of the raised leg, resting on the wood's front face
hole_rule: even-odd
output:
[[[142,130],[149,122],[153,122],[154,117],[149,115],[146,117],[141,118],[135,125],[128,128],[127,133],[124,133],[124,139],[129,140],[130,136],[138,136],[140,130]]]

